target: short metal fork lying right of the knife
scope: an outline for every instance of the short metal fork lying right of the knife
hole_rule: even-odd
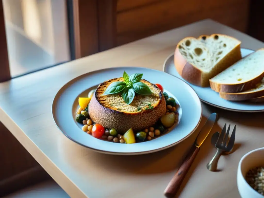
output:
[[[211,159],[211,161],[206,165],[206,167],[209,171],[216,171],[217,170],[217,163],[218,163],[218,160],[219,160],[219,158],[223,152],[229,153],[232,151],[232,149],[234,147],[234,143],[235,143],[235,127],[236,127],[236,125],[234,126],[233,132],[232,132],[230,139],[227,143],[228,135],[229,135],[229,131],[230,131],[230,124],[228,126],[227,133],[225,133],[225,130],[227,128],[227,123],[225,123],[224,128],[222,129],[222,132],[219,135],[217,142],[215,143],[215,147],[217,148],[217,151],[216,151],[214,157]]]

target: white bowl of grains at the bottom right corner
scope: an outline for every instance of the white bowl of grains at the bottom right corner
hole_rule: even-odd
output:
[[[252,150],[241,158],[237,186],[242,198],[264,198],[264,147]]]

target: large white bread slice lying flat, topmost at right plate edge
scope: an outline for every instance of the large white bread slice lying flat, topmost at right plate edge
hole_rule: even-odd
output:
[[[264,76],[264,48],[239,60],[223,72],[210,79],[216,92],[238,93],[256,87]]]

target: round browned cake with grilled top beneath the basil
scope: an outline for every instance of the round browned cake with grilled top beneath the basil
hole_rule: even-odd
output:
[[[155,84],[142,79],[140,82],[152,90],[152,95],[136,94],[132,103],[127,105],[120,93],[103,94],[116,81],[124,81],[124,78],[114,78],[97,87],[88,108],[89,116],[95,123],[125,133],[130,128],[137,131],[153,126],[166,113],[166,100]],[[153,106],[153,110],[146,109],[148,104]]]

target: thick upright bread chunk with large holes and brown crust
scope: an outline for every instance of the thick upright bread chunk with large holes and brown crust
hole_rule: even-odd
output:
[[[209,79],[242,58],[240,44],[241,41],[223,34],[186,37],[175,49],[176,70],[191,84],[209,86]]]

